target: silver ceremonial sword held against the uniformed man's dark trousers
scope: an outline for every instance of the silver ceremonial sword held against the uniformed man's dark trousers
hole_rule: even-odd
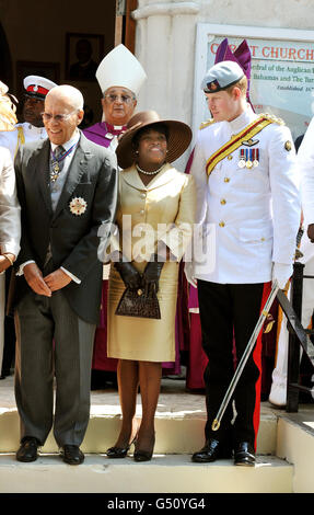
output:
[[[239,362],[239,365],[237,365],[237,367],[236,367],[236,369],[235,369],[235,373],[234,373],[234,376],[233,376],[233,378],[232,378],[232,380],[231,380],[231,384],[229,385],[229,388],[228,388],[228,390],[226,390],[226,392],[225,392],[225,396],[224,396],[224,398],[223,398],[223,400],[222,400],[222,403],[221,403],[221,405],[220,405],[220,408],[219,408],[219,410],[218,410],[218,413],[217,413],[217,415],[216,415],[216,419],[213,420],[213,422],[212,422],[212,424],[211,424],[212,431],[218,431],[219,427],[220,427],[220,422],[221,422],[221,419],[222,419],[222,416],[223,416],[223,413],[224,413],[224,411],[225,411],[225,409],[226,409],[226,407],[228,407],[228,404],[229,404],[229,402],[230,402],[230,399],[231,399],[231,397],[232,397],[232,394],[233,394],[233,392],[234,392],[234,389],[235,389],[236,384],[237,384],[237,381],[239,381],[239,379],[240,379],[240,377],[241,377],[241,375],[242,375],[243,368],[245,367],[245,364],[246,364],[246,362],[247,362],[247,359],[248,359],[248,356],[249,356],[251,352],[253,351],[253,347],[254,347],[254,345],[255,345],[255,342],[256,342],[256,340],[257,340],[257,336],[258,336],[258,334],[259,334],[259,331],[260,331],[261,328],[263,328],[263,324],[264,324],[264,322],[265,322],[265,320],[266,320],[266,318],[267,318],[267,316],[268,316],[269,309],[271,308],[271,305],[272,305],[272,302],[274,302],[274,300],[275,300],[275,298],[276,298],[276,296],[277,296],[278,290],[279,290],[279,286],[278,286],[277,281],[275,281],[275,282],[272,283],[271,291],[270,291],[270,294],[269,294],[269,296],[268,296],[268,299],[267,299],[266,302],[265,302],[265,306],[264,306],[264,308],[263,308],[263,310],[261,310],[261,313],[260,313],[260,316],[259,316],[259,319],[258,319],[258,321],[257,321],[257,324],[255,325],[255,329],[254,329],[254,331],[253,331],[253,333],[252,333],[252,336],[251,336],[251,339],[249,339],[249,341],[248,341],[248,344],[247,344],[247,346],[246,346],[246,348],[245,348],[245,351],[244,351],[244,353],[243,353],[243,355],[242,355],[242,358],[241,358],[240,362]]]

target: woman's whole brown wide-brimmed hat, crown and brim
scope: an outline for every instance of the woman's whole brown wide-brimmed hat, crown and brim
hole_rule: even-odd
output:
[[[119,139],[116,154],[120,168],[129,168],[136,160],[132,140],[137,133],[154,124],[167,127],[167,162],[175,161],[187,149],[191,140],[191,129],[188,125],[175,119],[162,119],[155,111],[142,111],[129,119],[127,129]]]

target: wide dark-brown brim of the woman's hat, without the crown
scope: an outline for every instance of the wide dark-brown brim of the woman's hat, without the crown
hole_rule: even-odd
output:
[[[116,156],[118,165],[123,169],[129,168],[136,161],[136,153],[132,147],[132,139],[139,130],[142,128],[149,128],[150,126],[163,124],[168,129],[167,138],[167,162],[173,162],[178,159],[185,150],[188,148],[191,141],[191,129],[188,125],[183,122],[173,119],[159,119],[154,122],[139,123],[128,129],[119,139],[119,144],[116,149]]]

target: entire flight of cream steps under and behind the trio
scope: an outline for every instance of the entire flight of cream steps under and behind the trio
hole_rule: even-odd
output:
[[[137,416],[140,420],[140,396]],[[0,492],[314,492],[313,404],[300,405],[292,414],[261,403],[258,460],[252,469],[232,461],[193,464],[191,453],[203,445],[205,422],[202,393],[186,391],[184,381],[163,381],[154,458],[146,464],[131,457],[109,460],[105,450],[120,427],[118,392],[96,391],[91,393],[91,419],[81,446],[84,464],[63,464],[51,434],[35,464],[19,464],[20,421],[10,377],[0,381]]]

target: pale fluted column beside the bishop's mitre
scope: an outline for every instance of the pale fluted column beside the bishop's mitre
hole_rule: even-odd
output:
[[[148,73],[140,110],[191,123],[198,2],[139,2],[136,56]]]

